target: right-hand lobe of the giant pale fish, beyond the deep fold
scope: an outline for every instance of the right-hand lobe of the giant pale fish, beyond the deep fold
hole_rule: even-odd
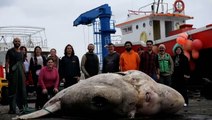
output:
[[[137,114],[175,114],[183,108],[184,98],[175,89],[157,83],[141,71],[130,70],[125,74],[123,80],[132,84],[139,93]]]

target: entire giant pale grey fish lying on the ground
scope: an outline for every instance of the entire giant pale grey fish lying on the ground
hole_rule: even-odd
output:
[[[98,74],[63,89],[41,110],[13,119],[32,119],[61,110],[68,115],[122,116],[173,114],[184,104],[182,95],[141,71]]]

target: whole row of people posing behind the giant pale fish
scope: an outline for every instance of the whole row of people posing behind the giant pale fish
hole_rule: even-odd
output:
[[[34,54],[27,60],[27,49],[20,47],[20,39],[13,40],[14,47],[6,54],[6,77],[9,81],[9,113],[15,113],[16,104],[22,112],[27,107],[25,79],[32,76],[37,99],[35,107],[40,109],[44,103],[59,90],[59,79],[64,82],[65,87],[77,83],[81,77],[79,58],[75,55],[73,46],[68,44],[64,49],[64,56],[59,59],[56,49],[50,50],[50,56],[42,55],[39,46],[34,48]],[[132,43],[127,41],[125,51],[120,55],[114,49],[115,46],[109,43],[108,55],[103,58],[103,73],[119,72],[126,70],[141,70],[154,80],[171,85],[187,99],[187,89],[184,79],[189,78],[188,59],[183,54],[183,49],[175,49],[174,62],[168,53],[165,53],[165,46],[159,46],[159,54],[152,51],[153,42],[146,42],[147,51],[138,54],[132,50]],[[85,78],[99,73],[99,59],[94,53],[94,45],[88,45],[88,52],[81,60],[81,70]],[[142,49],[141,49],[142,50]],[[22,65],[25,65],[23,67]],[[45,66],[45,67],[44,67]],[[31,74],[30,74],[31,73]],[[24,75],[25,74],[25,75]],[[172,80],[171,80],[172,78]]]

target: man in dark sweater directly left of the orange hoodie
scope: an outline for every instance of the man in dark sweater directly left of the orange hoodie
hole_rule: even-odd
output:
[[[119,72],[120,54],[116,52],[113,43],[107,45],[108,54],[103,59],[102,73]]]

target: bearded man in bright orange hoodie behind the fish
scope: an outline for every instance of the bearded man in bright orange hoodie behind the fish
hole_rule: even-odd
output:
[[[121,71],[139,70],[140,57],[137,52],[132,50],[132,42],[124,43],[125,51],[120,56]]]

